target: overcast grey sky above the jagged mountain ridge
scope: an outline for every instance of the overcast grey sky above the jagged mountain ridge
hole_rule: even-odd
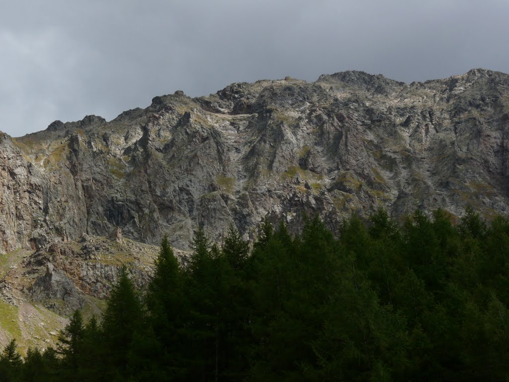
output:
[[[509,0],[16,0],[0,4],[0,130],[114,119],[157,95],[363,70],[509,72]]]

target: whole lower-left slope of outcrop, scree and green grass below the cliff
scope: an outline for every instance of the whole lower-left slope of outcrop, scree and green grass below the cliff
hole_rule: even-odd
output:
[[[118,237],[82,234],[0,258],[0,347],[12,338],[22,352],[30,346],[54,346],[74,310],[86,320],[100,316],[124,265],[136,287],[144,290],[159,247]],[[180,251],[176,255],[185,259]]]

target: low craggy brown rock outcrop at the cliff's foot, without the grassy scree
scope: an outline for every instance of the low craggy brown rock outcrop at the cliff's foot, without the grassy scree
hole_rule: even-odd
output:
[[[90,297],[107,298],[124,264],[142,290],[152,275],[159,248],[131,240],[119,241],[118,237],[84,234],[78,240],[45,245],[20,264],[16,281],[23,283],[31,301],[63,315],[94,304]],[[180,253],[177,255],[181,257]]]

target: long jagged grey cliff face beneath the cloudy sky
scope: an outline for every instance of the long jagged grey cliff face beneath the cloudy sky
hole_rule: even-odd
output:
[[[0,250],[83,232],[186,249],[204,226],[246,236],[383,205],[405,214],[509,203],[509,76],[474,69],[410,85],[363,72],[155,97],[106,122],[0,137]],[[122,236],[119,236],[122,240]]]

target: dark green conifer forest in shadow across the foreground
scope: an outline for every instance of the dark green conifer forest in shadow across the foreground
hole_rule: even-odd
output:
[[[99,318],[76,311],[56,348],[15,340],[5,381],[403,381],[509,378],[509,220],[380,209],[337,238],[195,232],[183,266],[161,243],[144,292],[123,268]]]

